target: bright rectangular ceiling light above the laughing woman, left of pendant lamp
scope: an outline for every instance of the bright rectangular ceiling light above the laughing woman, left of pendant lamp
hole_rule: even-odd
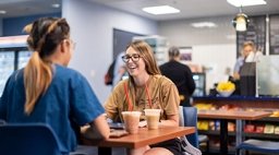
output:
[[[143,8],[143,11],[150,13],[150,14],[170,14],[170,13],[179,13],[180,10],[169,7],[169,5],[158,5],[158,7],[146,7]]]

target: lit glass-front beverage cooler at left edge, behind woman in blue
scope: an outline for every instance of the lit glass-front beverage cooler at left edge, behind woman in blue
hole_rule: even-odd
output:
[[[8,78],[13,71],[25,67],[31,55],[26,36],[0,37],[0,96]]]

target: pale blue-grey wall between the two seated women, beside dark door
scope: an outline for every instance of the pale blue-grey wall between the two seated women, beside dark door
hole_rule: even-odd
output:
[[[76,41],[70,68],[86,76],[101,103],[111,91],[104,84],[104,75],[112,61],[112,29],[157,34],[154,21],[87,0],[63,0],[62,16],[70,23],[72,38]]]

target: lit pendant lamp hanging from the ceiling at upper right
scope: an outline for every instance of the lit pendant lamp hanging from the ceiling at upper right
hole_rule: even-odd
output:
[[[233,19],[232,24],[236,32],[245,32],[248,25],[248,17],[242,13],[242,7],[240,7],[240,13]]]

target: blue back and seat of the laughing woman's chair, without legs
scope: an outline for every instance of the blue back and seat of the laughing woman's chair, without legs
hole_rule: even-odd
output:
[[[195,107],[180,106],[180,126],[195,127],[195,133],[186,135],[187,141],[198,148],[198,133],[197,133],[197,109]]]

